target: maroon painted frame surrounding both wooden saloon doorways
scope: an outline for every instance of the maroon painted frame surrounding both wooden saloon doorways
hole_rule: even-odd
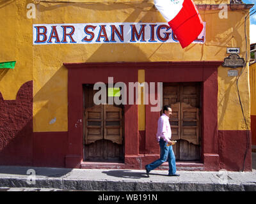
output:
[[[202,161],[205,170],[218,170],[218,67],[222,61],[191,62],[96,62],[64,63],[68,69],[67,168],[83,162],[83,84],[138,82],[138,69],[145,69],[148,82],[202,82]],[[157,89],[156,89],[157,91]],[[128,96],[127,96],[128,98]],[[135,103],[134,103],[135,104]],[[159,112],[146,105],[145,155],[140,156],[138,105],[125,105],[125,167],[143,168],[150,155],[159,154],[155,131]],[[139,157],[140,159],[135,159]],[[129,161],[129,158],[134,158]],[[141,161],[142,158],[142,161]],[[140,160],[140,161],[139,161]],[[126,162],[127,161],[127,162]],[[140,162],[140,164],[132,164]]]

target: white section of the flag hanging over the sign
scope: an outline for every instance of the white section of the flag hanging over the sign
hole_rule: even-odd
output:
[[[183,2],[184,0],[154,0],[157,10],[167,22],[175,18],[182,9]]]

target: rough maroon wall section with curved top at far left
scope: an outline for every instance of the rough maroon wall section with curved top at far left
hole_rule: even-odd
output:
[[[23,84],[15,100],[0,92],[0,164],[32,164],[33,81]]]

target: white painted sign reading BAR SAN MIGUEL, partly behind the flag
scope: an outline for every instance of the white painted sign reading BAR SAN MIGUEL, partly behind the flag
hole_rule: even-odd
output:
[[[193,43],[204,43],[204,29]],[[33,45],[179,43],[167,23],[33,24]]]

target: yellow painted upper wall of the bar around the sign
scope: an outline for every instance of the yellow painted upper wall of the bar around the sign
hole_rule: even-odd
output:
[[[33,24],[77,24],[99,22],[165,22],[153,1],[82,1],[81,3],[35,4],[36,18],[27,18],[26,6],[34,1],[1,1],[0,62],[17,61],[15,69],[0,70],[0,92],[4,99],[15,99],[22,84],[33,80],[33,131],[67,131],[67,75],[63,62],[115,61],[223,61],[227,47],[240,47],[245,58],[244,17],[248,11],[199,10],[206,22],[204,45],[179,43],[33,45]],[[199,4],[228,1],[195,1]],[[232,19],[232,20],[230,20]],[[249,20],[247,33],[249,33]],[[249,44],[248,44],[249,47]],[[244,129],[237,98],[235,78],[227,69],[218,69],[218,128]],[[143,78],[143,77],[142,77]],[[248,67],[240,77],[239,90],[246,119],[250,122]],[[141,106],[141,108],[145,108]],[[139,112],[143,112],[140,110]],[[56,122],[50,124],[52,119]],[[140,119],[140,129],[145,126]]]

